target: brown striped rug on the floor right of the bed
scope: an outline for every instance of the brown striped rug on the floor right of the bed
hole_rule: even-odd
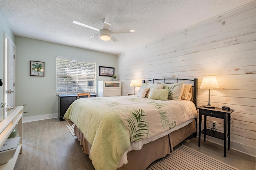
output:
[[[147,170],[238,170],[224,162],[182,145]]]

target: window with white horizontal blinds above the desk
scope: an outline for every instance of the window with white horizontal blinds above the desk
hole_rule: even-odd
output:
[[[93,81],[93,86],[88,86]],[[95,92],[96,63],[79,59],[56,57],[56,92],[84,93]]]

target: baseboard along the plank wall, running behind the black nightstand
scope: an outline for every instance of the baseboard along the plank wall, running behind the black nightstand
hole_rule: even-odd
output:
[[[198,136],[198,133],[197,133],[197,136]],[[214,142],[216,144],[220,144],[224,147],[224,142],[221,139],[214,138],[212,136],[207,135],[206,140],[210,142]],[[204,134],[201,134],[201,144],[202,142],[204,142]],[[227,141],[227,146],[228,146],[228,141]],[[252,146],[248,146],[248,145],[230,140],[230,149],[237,150],[238,152],[242,152],[244,154],[248,154],[250,156],[256,157],[256,148]],[[224,148],[223,148],[223,155],[224,155]],[[228,149],[227,149],[227,155],[228,155]]]

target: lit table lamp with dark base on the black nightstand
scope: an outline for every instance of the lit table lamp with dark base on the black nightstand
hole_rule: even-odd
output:
[[[216,77],[207,76],[207,77],[203,78],[200,89],[209,89],[208,105],[205,105],[204,107],[213,108],[213,109],[215,108],[215,106],[211,106],[211,104],[210,104],[210,89],[218,89],[218,88],[219,88],[219,85],[218,85],[218,81],[217,81]]]

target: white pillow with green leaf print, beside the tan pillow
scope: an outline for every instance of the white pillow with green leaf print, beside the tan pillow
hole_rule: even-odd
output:
[[[180,101],[184,87],[184,81],[170,84],[165,88],[169,90],[168,99]]]

